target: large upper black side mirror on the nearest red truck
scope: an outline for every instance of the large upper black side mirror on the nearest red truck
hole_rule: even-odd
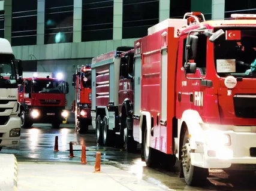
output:
[[[189,35],[186,39],[185,60],[194,60],[197,55],[198,36]]]

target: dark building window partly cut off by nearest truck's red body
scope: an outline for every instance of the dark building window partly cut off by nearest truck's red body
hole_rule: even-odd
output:
[[[159,21],[159,0],[123,0],[122,38],[140,38]]]

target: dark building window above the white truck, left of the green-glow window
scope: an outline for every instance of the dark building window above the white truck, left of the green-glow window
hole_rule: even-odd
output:
[[[37,1],[13,0],[11,19],[11,45],[37,44]]]

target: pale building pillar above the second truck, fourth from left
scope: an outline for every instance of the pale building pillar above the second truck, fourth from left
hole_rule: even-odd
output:
[[[123,0],[114,0],[113,40],[122,39]]]

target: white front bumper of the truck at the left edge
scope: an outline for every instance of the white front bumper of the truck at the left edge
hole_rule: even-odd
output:
[[[21,121],[16,115],[10,116],[5,125],[0,125],[0,147],[19,146],[20,135],[18,137],[10,137],[12,129],[20,130]]]

